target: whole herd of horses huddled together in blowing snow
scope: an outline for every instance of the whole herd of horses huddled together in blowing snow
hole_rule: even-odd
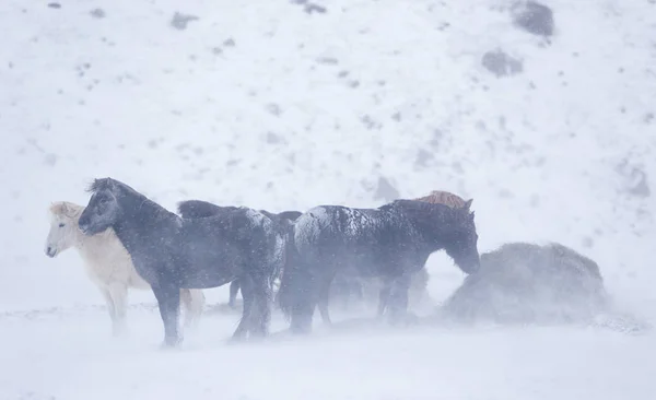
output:
[[[444,191],[376,209],[318,205],[278,214],[199,200],[178,203],[176,214],[112,178],[95,179],[87,191],[86,207],[51,204],[46,255],[79,250],[115,334],[125,328],[128,289],[151,287],[165,346],[181,341],[180,303],[186,325],[198,320],[203,289],[231,283],[230,304],[241,290],[242,318],[232,336],[241,340],[269,333],[273,304],[294,333],[311,332],[315,308],[330,323],[336,277],[379,280],[378,316],[405,323],[412,319],[411,278],[431,254],[444,249],[465,273],[480,266],[472,200]]]

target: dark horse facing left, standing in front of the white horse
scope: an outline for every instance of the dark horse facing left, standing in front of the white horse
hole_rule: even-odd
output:
[[[164,325],[162,346],[177,346],[179,290],[219,287],[239,279],[244,309],[232,340],[268,334],[270,275],[277,270],[271,220],[238,208],[200,219],[169,212],[128,185],[99,178],[80,215],[84,235],[112,227],[134,269],[152,287]]]

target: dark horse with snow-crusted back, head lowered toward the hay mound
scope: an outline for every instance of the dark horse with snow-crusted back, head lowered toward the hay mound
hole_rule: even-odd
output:
[[[292,259],[279,292],[291,330],[309,332],[316,305],[328,298],[338,271],[383,278],[393,322],[407,316],[410,275],[444,249],[466,273],[479,268],[471,200],[462,209],[396,200],[378,209],[321,205],[296,220]],[[326,319],[326,318],[324,318]]]

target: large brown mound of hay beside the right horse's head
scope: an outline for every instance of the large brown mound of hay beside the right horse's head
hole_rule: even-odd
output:
[[[560,244],[511,243],[481,255],[441,309],[446,319],[473,323],[591,321],[608,307],[597,263]]]

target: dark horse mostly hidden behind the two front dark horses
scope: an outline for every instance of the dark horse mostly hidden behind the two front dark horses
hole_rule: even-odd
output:
[[[225,210],[235,210],[237,209],[234,205],[216,205],[202,200],[186,200],[180,201],[177,204],[178,214],[185,219],[194,219],[194,217],[208,217],[212,216],[216,213],[221,213]],[[274,223],[274,228],[278,231],[277,234],[280,235],[281,239],[285,239],[293,222],[301,216],[300,211],[283,211],[281,213],[271,213],[266,210],[259,210],[262,214],[267,215]],[[284,255],[283,255],[284,256]],[[283,257],[282,256],[282,257]],[[277,274],[276,279],[280,278],[280,272]],[[235,279],[230,283],[230,295],[227,305],[231,308],[235,308],[235,302],[237,298],[237,293],[239,292],[239,280]]]

